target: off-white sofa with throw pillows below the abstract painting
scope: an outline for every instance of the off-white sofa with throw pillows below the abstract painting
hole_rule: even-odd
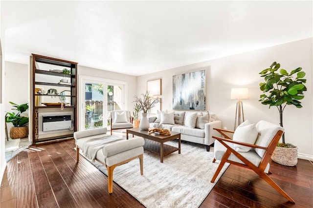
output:
[[[214,113],[195,111],[160,111],[149,118],[149,123],[150,128],[162,124],[164,129],[179,132],[181,140],[205,145],[207,151],[214,144],[212,136],[221,136],[213,128],[222,128],[222,121]]]

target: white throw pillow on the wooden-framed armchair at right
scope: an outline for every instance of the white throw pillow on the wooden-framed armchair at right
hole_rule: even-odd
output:
[[[233,135],[233,140],[254,145],[257,137],[258,130],[255,127],[255,124],[251,124],[248,120],[246,120],[236,128]],[[251,149],[251,147],[237,144],[234,144],[234,148],[237,152],[247,152]]]

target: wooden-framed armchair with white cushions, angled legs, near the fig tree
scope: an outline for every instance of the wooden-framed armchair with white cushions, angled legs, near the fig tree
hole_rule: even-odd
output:
[[[284,133],[284,128],[266,121],[259,121],[256,125],[248,121],[239,125],[235,131],[217,129],[224,138],[212,136],[214,142],[214,160],[220,161],[211,182],[214,183],[225,163],[252,169],[263,178],[271,187],[275,188],[290,202],[291,197],[279,187],[267,173],[269,171],[270,157]],[[233,134],[230,138],[229,134]]]

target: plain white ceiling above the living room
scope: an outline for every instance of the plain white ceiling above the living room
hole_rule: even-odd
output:
[[[312,0],[0,3],[5,61],[35,53],[135,76],[313,37]]]

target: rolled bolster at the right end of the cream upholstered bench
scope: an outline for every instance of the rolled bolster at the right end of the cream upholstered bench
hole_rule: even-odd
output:
[[[102,148],[102,152],[105,157],[110,157],[112,155],[143,146],[144,144],[145,140],[142,137],[137,137],[106,145]]]

